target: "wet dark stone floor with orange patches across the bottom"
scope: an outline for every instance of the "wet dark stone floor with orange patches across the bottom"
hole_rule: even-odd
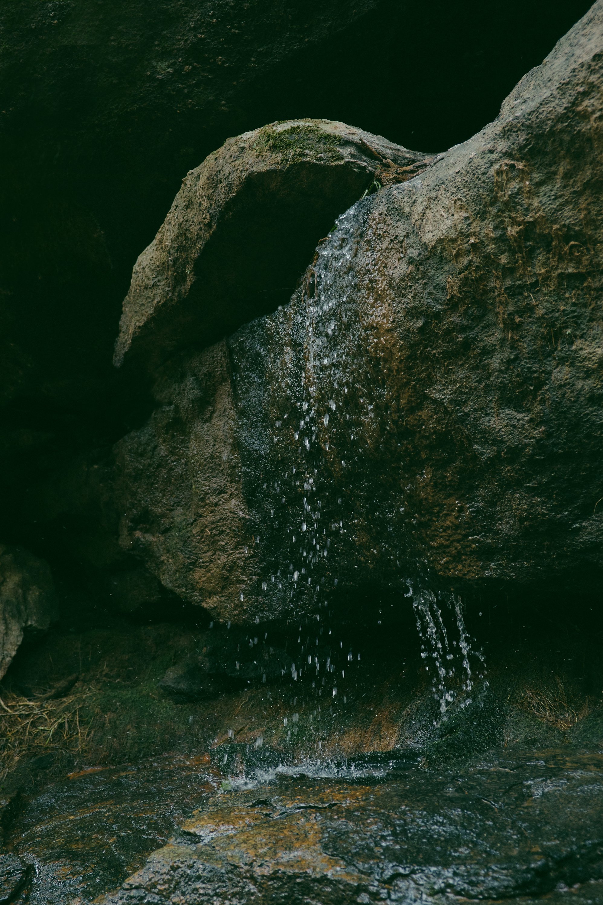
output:
[[[24,796],[1,900],[603,903],[602,752],[275,763],[163,757]]]

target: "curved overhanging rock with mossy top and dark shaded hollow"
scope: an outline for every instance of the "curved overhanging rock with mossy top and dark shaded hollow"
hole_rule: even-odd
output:
[[[230,138],[184,178],[139,256],[116,364],[126,355],[154,363],[195,340],[210,345],[274,310],[384,159],[403,179],[426,157],[328,119],[272,123]]]

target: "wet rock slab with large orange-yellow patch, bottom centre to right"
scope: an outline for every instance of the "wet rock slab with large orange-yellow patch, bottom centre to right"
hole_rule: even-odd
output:
[[[600,754],[542,751],[437,775],[277,776],[216,795],[106,901],[487,901],[560,887],[573,900],[569,887],[603,871],[602,767]]]

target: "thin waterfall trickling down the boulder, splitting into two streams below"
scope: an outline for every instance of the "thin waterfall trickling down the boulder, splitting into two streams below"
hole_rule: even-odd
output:
[[[444,711],[458,688],[471,690],[474,652],[460,599],[435,589],[408,505],[415,488],[402,478],[407,428],[392,375],[391,281],[380,279],[381,265],[367,254],[374,204],[374,196],[363,198],[337,219],[290,304],[262,319],[274,475],[264,506],[270,546],[280,553],[261,589],[286,595],[306,623],[292,679],[310,670],[321,687],[334,672],[321,634],[330,633],[335,589],[363,581],[400,606],[410,598]],[[448,629],[442,611],[452,616]],[[302,644],[306,630],[308,637],[316,630],[316,644]]]

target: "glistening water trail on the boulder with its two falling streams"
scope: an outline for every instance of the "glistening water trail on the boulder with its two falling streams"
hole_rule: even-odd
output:
[[[281,334],[288,338],[284,353],[288,378],[278,382],[275,404],[274,443],[284,451],[283,471],[275,482],[276,505],[284,515],[281,524],[284,520],[287,525],[282,537],[288,559],[279,573],[287,576],[292,604],[310,614],[299,625],[299,658],[292,679],[310,671],[318,696],[337,694],[334,659],[339,652],[327,618],[331,595],[338,585],[340,589],[353,585],[359,556],[356,538],[376,533],[387,537],[389,529],[397,546],[373,550],[375,564],[396,564],[398,586],[407,588],[397,593],[411,599],[421,657],[444,712],[459,687],[471,690],[474,652],[461,600],[432,589],[429,568],[411,536],[413,520],[405,515],[406,500],[402,505],[392,500],[387,482],[381,481],[380,468],[390,467],[388,449],[383,447],[388,439],[380,433],[380,420],[385,420],[390,404],[388,389],[371,374],[358,373],[356,352],[363,344],[386,340],[375,338],[370,325],[363,332],[354,308],[359,292],[372,291],[370,281],[359,285],[354,268],[371,204],[367,198],[338,218],[290,305],[277,315],[281,322],[288,319]],[[375,292],[375,306],[378,302]],[[385,360],[386,351],[384,345],[375,345],[375,360]],[[335,563],[344,574],[334,572]],[[274,582],[275,576],[266,585],[269,580]],[[481,654],[476,655],[483,661]],[[345,667],[338,664],[337,672],[344,679]]]

